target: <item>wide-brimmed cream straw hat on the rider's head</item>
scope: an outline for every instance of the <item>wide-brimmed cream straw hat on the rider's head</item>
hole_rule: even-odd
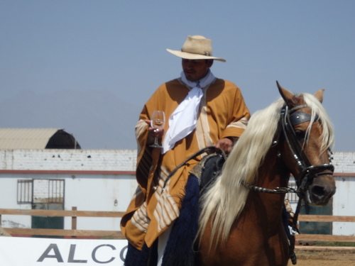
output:
[[[213,59],[226,62],[223,58],[212,56],[212,40],[204,38],[204,36],[201,35],[187,36],[187,39],[184,45],[182,45],[182,49],[180,51],[170,49],[166,50],[171,52],[173,55],[184,59]]]

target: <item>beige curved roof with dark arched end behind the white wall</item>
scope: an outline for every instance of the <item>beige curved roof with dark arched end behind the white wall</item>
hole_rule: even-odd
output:
[[[80,149],[61,128],[0,128],[0,149]]]

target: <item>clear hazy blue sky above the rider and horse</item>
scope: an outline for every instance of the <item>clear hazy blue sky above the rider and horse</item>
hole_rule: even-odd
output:
[[[354,11],[354,0],[0,0],[1,101],[23,90],[102,90],[136,106],[124,114],[136,120],[180,75],[180,58],[165,49],[204,35],[226,59],[212,72],[239,86],[252,112],[278,98],[275,80],[292,92],[326,89],[334,150],[355,152]]]

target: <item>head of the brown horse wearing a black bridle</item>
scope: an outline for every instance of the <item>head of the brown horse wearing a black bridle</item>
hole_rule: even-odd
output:
[[[334,134],[322,107],[324,89],[314,96],[294,95],[277,85],[285,101],[280,118],[285,141],[280,156],[295,177],[297,194],[308,204],[324,206],[336,190],[330,157]]]

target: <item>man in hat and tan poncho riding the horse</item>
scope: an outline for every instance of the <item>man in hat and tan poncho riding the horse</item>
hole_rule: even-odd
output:
[[[196,216],[192,224],[185,226],[195,231],[191,239],[181,240],[188,245],[184,247],[186,253],[192,253],[199,186],[197,178],[189,172],[205,154],[192,155],[211,145],[229,153],[250,118],[240,89],[212,74],[210,67],[214,60],[225,60],[212,56],[210,39],[188,36],[181,50],[167,50],[182,58],[182,72],[177,79],[158,87],[143,107],[136,125],[138,188],[121,219],[121,231],[129,240],[126,265],[147,265],[149,253],[149,260],[156,260],[150,265],[168,265],[163,256],[165,245],[170,233],[178,227],[174,224],[182,223],[184,201],[189,205],[187,216]],[[168,118],[163,130],[151,126],[155,110],[164,111]],[[150,147],[155,137],[160,138],[163,148]],[[175,232],[175,235],[185,234]],[[156,246],[158,255],[152,255]]]

